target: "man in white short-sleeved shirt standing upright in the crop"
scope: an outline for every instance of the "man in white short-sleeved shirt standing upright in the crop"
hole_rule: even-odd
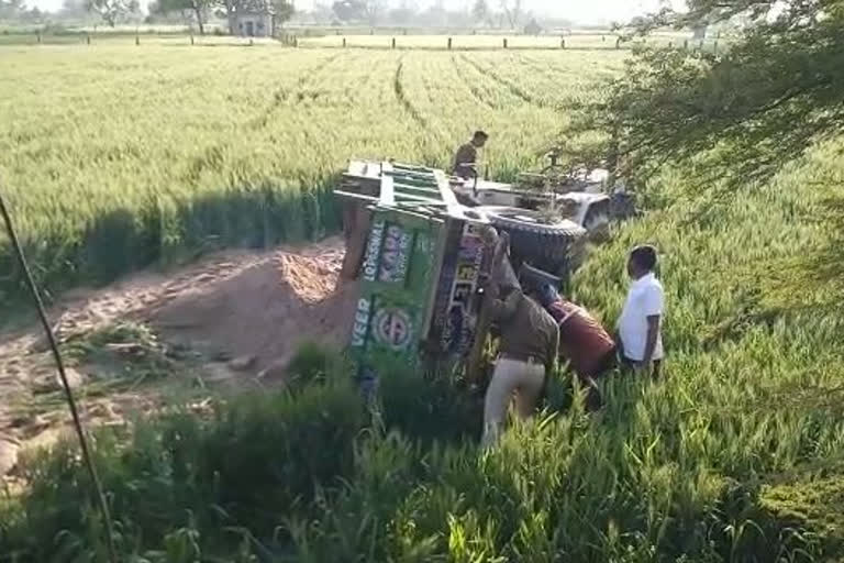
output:
[[[631,251],[628,274],[632,283],[619,319],[619,349],[622,364],[657,377],[663,360],[665,294],[654,268],[656,249],[636,246]]]

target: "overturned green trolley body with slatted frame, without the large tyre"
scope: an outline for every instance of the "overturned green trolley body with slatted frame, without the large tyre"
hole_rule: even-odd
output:
[[[496,230],[517,235],[513,262],[547,255],[560,267],[565,255],[553,247],[536,252],[542,232],[535,241],[520,238],[518,219],[460,205],[438,169],[352,162],[335,194],[343,200],[346,238],[342,277],[359,283],[349,351],[364,382],[396,362],[457,364],[478,349],[485,279],[496,268],[518,283],[510,263],[496,254]],[[565,230],[565,244],[585,233],[570,221],[549,229]],[[544,240],[547,245],[563,239]]]

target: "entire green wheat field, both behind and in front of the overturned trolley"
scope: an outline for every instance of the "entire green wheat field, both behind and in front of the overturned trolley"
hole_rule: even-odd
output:
[[[567,108],[606,93],[626,56],[163,46],[0,55],[2,189],[52,288],[189,251],[319,236],[336,228],[327,191],[352,156],[444,165],[484,128],[491,177],[537,167]],[[477,401],[458,383],[398,366],[382,374],[374,415],[342,358],[312,354],[300,365],[318,376],[301,389],[99,434],[121,554],[841,560],[844,331],[839,313],[807,307],[829,299],[822,284],[773,284],[840,244],[826,218],[844,176],[839,145],[728,195],[666,167],[642,187],[644,217],[591,250],[575,298],[612,325],[626,252],[658,247],[662,380],[613,374],[607,409],[590,417],[560,371],[548,410],[485,453]],[[25,476],[26,494],[0,497],[0,560],[106,561],[101,522],[79,501],[90,484],[76,450],[31,461]]]

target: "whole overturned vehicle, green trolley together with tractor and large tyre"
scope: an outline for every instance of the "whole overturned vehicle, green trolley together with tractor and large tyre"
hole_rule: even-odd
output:
[[[515,272],[568,280],[586,241],[609,225],[606,181],[593,174],[570,183],[578,190],[525,181],[536,177],[511,185],[349,162],[334,194],[346,240],[341,278],[359,284],[349,351],[362,380],[376,380],[397,357],[477,371],[488,328],[486,280],[518,285]]]

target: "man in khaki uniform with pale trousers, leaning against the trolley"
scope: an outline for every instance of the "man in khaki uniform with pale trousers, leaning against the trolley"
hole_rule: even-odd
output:
[[[496,290],[491,288],[491,290]],[[517,412],[529,418],[557,357],[559,328],[536,301],[512,285],[491,303],[500,331],[499,356],[484,400],[484,446],[496,443],[515,391]]]

